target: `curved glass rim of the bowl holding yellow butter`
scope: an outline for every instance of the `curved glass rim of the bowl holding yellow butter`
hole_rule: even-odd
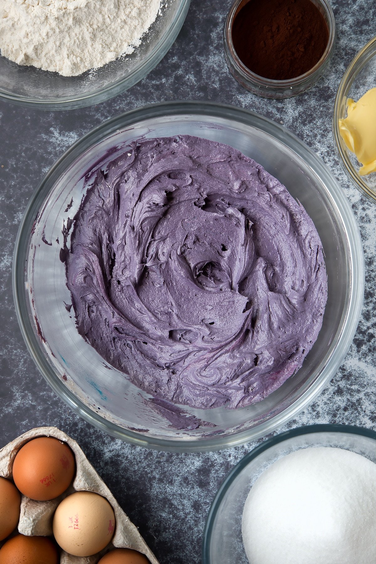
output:
[[[348,86],[348,78],[350,77],[353,70],[356,68],[357,63],[367,54],[369,50],[375,49],[375,57],[376,57],[376,36],[373,37],[362,49],[357,52],[355,57],[352,59],[351,63],[348,65],[347,69],[345,70],[342,80],[339,83],[337,94],[335,95],[334,100],[334,110],[333,110],[333,121],[332,121],[332,133],[334,138],[334,146],[337,151],[337,155],[339,157],[340,164],[342,168],[346,172],[348,178],[350,178],[351,182],[355,185],[357,190],[359,190],[362,194],[367,196],[372,201],[376,201],[376,192],[371,190],[370,187],[362,180],[359,174],[355,173],[355,169],[353,168],[350,158],[346,152],[344,152],[342,148],[342,141],[341,136],[339,133],[339,105],[340,100],[343,98],[343,92],[345,88]]]

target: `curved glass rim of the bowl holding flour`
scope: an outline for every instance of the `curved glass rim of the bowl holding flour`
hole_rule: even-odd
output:
[[[90,92],[73,96],[61,96],[60,98],[49,99],[11,94],[9,91],[3,90],[0,86],[0,99],[13,104],[22,105],[24,107],[46,110],[63,110],[84,108],[90,105],[100,104],[101,102],[105,102],[106,100],[113,98],[113,96],[130,89],[140,80],[145,78],[145,76],[147,76],[149,72],[151,72],[158,63],[160,63],[163,57],[171,49],[176,37],[178,37],[180,29],[183,27],[185,17],[187,16],[191,0],[175,1],[179,2],[179,5],[167,32],[162,34],[160,41],[158,41],[148,55],[141,59],[141,61],[139,61],[139,63],[137,63],[126,76],[123,76],[115,82],[107,84],[98,90],[92,90]]]

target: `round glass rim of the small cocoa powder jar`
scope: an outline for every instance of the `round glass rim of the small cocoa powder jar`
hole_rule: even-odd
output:
[[[231,8],[229,9],[224,24],[223,35],[227,56],[231,58],[231,62],[235,66],[237,72],[240,73],[245,80],[253,82],[256,86],[267,87],[272,91],[273,89],[293,88],[294,86],[299,86],[309,78],[315,77],[315,75],[320,72],[322,65],[325,64],[325,62],[330,58],[335,43],[335,18],[328,0],[317,0],[317,2],[319,2],[324,8],[329,20],[328,43],[326,44],[324,53],[321,55],[321,58],[317,61],[317,63],[313,65],[311,69],[307,70],[307,72],[299,74],[299,76],[296,76],[294,78],[286,78],[285,80],[275,80],[274,78],[266,78],[260,76],[260,74],[256,74],[248,67],[246,67],[246,65],[238,57],[232,42],[232,24],[235,17],[235,12],[241,2],[242,0],[235,0]]]

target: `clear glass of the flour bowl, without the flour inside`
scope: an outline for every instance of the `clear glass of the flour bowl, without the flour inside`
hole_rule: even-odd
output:
[[[166,0],[132,54],[99,69],[66,77],[24,67],[0,55],[0,99],[39,109],[72,109],[117,96],[144,78],[166,55],[187,16],[191,0]]]

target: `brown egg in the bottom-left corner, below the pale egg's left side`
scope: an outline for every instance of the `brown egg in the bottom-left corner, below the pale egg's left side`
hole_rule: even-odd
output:
[[[0,564],[58,564],[57,549],[45,536],[17,535],[0,549]]]

